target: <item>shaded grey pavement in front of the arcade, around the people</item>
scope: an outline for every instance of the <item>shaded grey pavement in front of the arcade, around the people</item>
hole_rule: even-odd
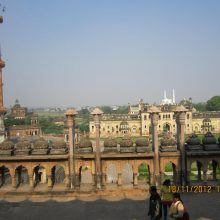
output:
[[[191,220],[219,220],[220,193],[184,194]],[[117,199],[117,198],[116,198]],[[89,199],[88,199],[89,200]],[[0,220],[145,220],[147,200],[0,202]]]

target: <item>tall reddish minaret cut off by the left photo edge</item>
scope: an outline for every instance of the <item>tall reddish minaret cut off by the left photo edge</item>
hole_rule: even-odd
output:
[[[0,23],[3,22],[3,17],[0,16]],[[4,126],[4,115],[6,113],[6,108],[3,104],[3,83],[2,83],[2,69],[5,67],[5,62],[1,57],[0,48],[0,143],[5,139],[5,126]]]

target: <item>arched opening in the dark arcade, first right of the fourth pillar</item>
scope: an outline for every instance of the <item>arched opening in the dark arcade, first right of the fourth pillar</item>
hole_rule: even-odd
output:
[[[190,182],[198,184],[203,181],[203,166],[200,161],[194,161],[190,168]]]

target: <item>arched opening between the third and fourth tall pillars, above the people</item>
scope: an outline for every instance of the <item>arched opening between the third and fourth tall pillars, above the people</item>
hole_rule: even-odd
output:
[[[169,179],[171,183],[176,184],[178,182],[177,178],[178,176],[176,165],[170,161],[164,167],[164,171],[162,174],[162,182],[164,182],[164,180],[166,179]]]

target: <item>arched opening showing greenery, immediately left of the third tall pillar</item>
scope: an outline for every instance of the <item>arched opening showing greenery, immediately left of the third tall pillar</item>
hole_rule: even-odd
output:
[[[142,163],[138,167],[138,185],[150,184],[150,167]]]

